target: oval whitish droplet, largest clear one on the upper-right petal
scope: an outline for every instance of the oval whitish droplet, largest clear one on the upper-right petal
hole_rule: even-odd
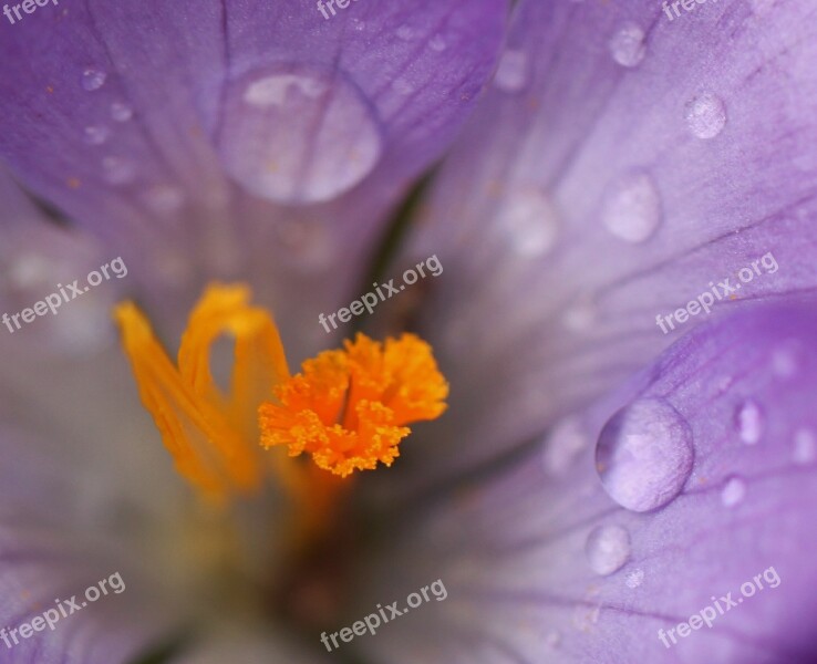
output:
[[[649,239],[661,224],[661,195],[652,177],[634,172],[614,180],[604,195],[601,220],[627,242]]]

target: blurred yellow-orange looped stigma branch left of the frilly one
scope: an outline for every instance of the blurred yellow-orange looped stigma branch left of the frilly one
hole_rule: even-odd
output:
[[[125,302],[114,312],[142,402],[176,469],[217,498],[259,486],[255,411],[289,377],[278,329],[269,313],[248,304],[249,297],[247,288],[209,287],[190,314],[178,367],[135,304]],[[218,390],[209,366],[210,347],[223,334],[235,339],[229,396]]]

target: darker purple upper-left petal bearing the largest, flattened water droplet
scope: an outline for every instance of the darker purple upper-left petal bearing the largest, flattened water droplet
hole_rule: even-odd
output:
[[[331,20],[294,0],[46,6],[3,32],[0,54],[19,65],[0,81],[14,127],[0,154],[126,248],[134,286],[168,319],[208,279],[247,279],[292,330],[314,330],[314,349],[327,343],[318,313],[349,301],[387,210],[473,108],[505,11],[504,0],[364,2]],[[157,294],[168,289],[173,303]]]

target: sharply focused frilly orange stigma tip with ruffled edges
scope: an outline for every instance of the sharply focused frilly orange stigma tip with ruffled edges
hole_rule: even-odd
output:
[[[278,403],[259,409],[261,444],[312,455],[319,467],[345,477],[391,466],[404,425],[434,419],[446,408],[448,385],[431,346],[414,334],[385,344],[358,334],[343,351],[325,351],[275,390]]]

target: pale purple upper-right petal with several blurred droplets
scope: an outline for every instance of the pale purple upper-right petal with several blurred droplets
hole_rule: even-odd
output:
[[[393,269],[446,268],[421,320],[453,385],[439,438],[414,447],[426,479],[518,445],[702,320],[814,289],[814,10],[693,7],[517,7]],[[656,315],[699,295],[711,315],[693,304],[662,333]]]

